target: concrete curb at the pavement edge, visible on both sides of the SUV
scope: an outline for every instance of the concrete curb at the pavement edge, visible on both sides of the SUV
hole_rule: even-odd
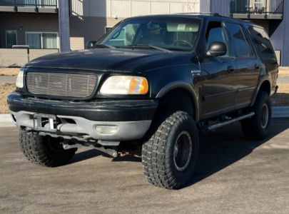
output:
[[[272,118],[289,118],[289,106],[273,107]],[[9,113],[0,114],[0,127],[13,127],[15,124],[12,122]]]

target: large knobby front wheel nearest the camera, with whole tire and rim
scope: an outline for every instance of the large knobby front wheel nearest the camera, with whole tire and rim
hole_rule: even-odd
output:
[[[162,113],[153,121],[142,148],[148,182],[161,188],[181,188],[193,174],[198,158],[196,123],[183,111]]]

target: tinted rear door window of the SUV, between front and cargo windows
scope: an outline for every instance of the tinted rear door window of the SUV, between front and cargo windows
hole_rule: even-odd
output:
[[[238,24],[226,23],[233,41],[235,56],[250,56],[243,32]]]

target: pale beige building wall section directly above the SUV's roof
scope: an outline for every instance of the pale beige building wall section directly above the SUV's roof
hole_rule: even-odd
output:
[[[203,0],[70,0],[71,15],[125,18],[149,14],[195,13]]]

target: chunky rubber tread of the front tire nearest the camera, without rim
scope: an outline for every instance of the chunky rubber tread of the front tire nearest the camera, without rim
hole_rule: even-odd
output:
[[[196,123],[186,112],[163,112],[156,118],[156,121],[153,121],[151,129],[145,137],[142,149],[143,172],[149,183],[160,188],[178,189],[188,181],[188,179],[178,180],[175,178],[171,170],[170,160],[166,158],[169,157],[169,151],[166,149],[168,133],[173,128],[174,123],[181,123],[186,120],[191,120],[195,125],[193,126],[193,132],[198,139]],[[198,151],[198,143],[194,149]],[[193,173],[196,159],[197,157],[193,158],[193,167],[188,170],[188,174]],[[186,178],[186,175],[184,175],[184,178]]]

